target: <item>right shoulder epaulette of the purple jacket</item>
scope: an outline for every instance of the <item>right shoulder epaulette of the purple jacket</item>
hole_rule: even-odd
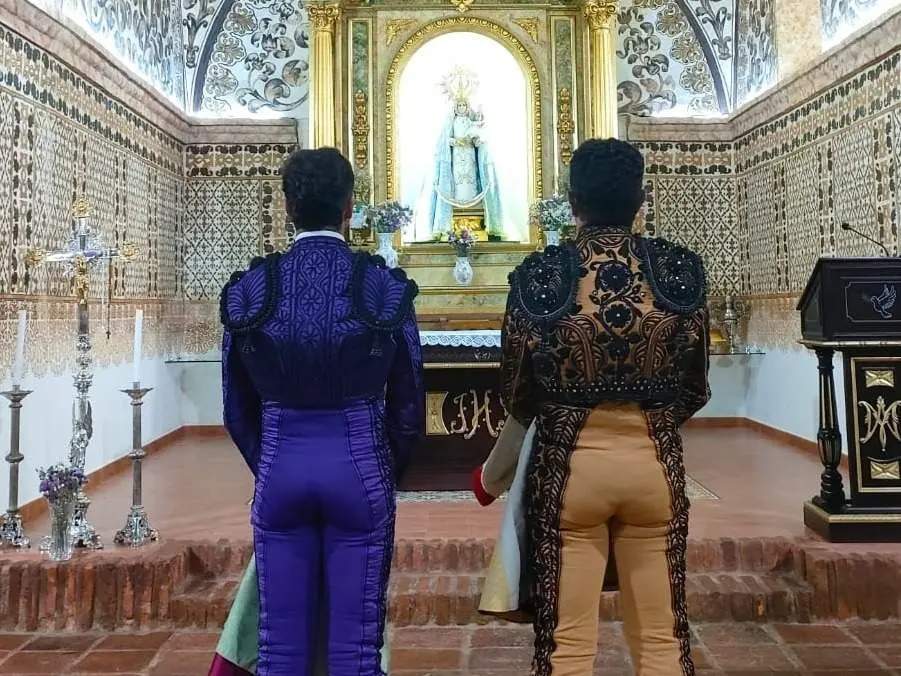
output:
[[[413,312],[419,287],[400,268],[388,268],[381,256],[354,254],[350,279],[354,316],[373,331],[395,331]]]

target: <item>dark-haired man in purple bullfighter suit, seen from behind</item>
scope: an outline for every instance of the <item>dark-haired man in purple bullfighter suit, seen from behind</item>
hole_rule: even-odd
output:
[[[344,242],[338,151],[296,152],[282,180],[296,242],[221,301],[225,423],[256,477],[257,674],[309,676],[324,631],[331,676],[374,676],[395,487],[423,431],[417,289]]]

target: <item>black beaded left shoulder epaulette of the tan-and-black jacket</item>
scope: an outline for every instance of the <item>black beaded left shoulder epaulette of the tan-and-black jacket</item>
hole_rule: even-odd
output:
[[[579,252],[572,243],[529,254],[510,273],[510,296],[526,316],[551,324],[573,311],[579,288]]]

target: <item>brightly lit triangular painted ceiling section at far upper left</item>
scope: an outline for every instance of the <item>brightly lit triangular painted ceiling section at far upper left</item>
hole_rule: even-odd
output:
[[[166,98],[184,107],[179,0],[32,0],[65,16],[140,74]]]

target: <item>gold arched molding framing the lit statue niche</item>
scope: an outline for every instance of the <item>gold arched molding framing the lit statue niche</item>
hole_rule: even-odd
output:
[[[397,101],[397,88],[400,83],[400,74],[404,66],[416,50],[432,38],[446,33],[471,31],[481,33],[493,38],[507,47],[526,77],[530,98],[530,135],[532,137],[531,152],[531,182],[529,185],[529,200],[534,201],[542,196],[543,192],[543,135],[541,128],[541,75],[535,60],[526,49],[525,45],[509,30],[487,19],[474,16],[455,16],[433,21],[411,35],[398,48],[397,53],[388,67],[388,75],[385,82],[385,186],[388,199],[397,199],[397,130],[395,128],[395,105]],[[530,233],[531,240],[537,241],[537,232]],[[495,247],[496,248],[496,247]]]

